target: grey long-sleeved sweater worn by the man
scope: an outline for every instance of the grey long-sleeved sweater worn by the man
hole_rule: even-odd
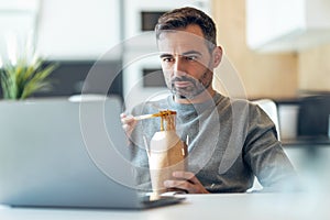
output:
[[[188,167],[210,193],[244,193],[254,176],[265,189],[280,190],[296,174],[277,141],[276,129],[267,114],[248,100],[217,94],[198,105],[179,105],[173,97],[134,108],[132,114],[177,112],[177,134],[189,139]],[[151,180],[145,143],[160,131],[160,118],[139,121],[132,133],[131,160],[136,184],[150,190]]]

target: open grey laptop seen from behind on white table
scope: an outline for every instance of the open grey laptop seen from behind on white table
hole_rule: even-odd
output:
[[[118,97],[0,101],[0,204],[14,207],[145,209],[134,186]]]

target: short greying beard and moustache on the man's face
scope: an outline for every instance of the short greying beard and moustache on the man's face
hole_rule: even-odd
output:
[[[177,87],[176,82],[188,82],[185,87]],[[198,95],[206,91],[212,84],[212,73],[206,70],[200,79],[196,79],[189,76],[175,77],[167,85],[174,96],[179,99],[194,99]]]

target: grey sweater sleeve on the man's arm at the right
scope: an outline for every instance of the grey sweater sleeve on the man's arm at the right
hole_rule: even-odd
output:
[[[268,116],[251,105],[243,155],[264,190],[298,188],[297,174],[277,140],[276,128]]]

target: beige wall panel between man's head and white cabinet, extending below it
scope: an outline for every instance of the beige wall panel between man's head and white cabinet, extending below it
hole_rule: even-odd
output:
[[[218,44],[222,45],[227,57],[237,69],[248,98],[296,97],[299,56],[295,53],[257,54],[248,48],[245,0],[213,0],[212,16],[218,28]],[[223,73],[217,74],[221,79]],[[237,96],[242,96],[241,91]]]

